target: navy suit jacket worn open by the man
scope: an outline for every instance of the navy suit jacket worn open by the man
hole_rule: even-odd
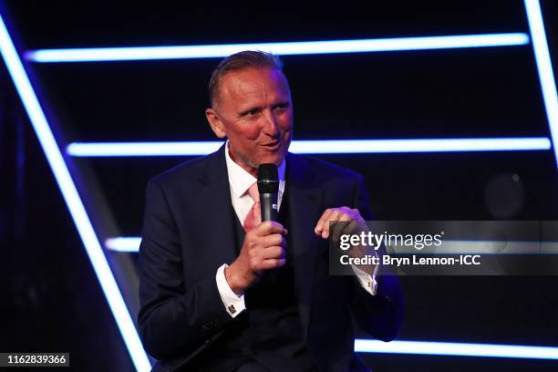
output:
[[[159,359],[154,370],[176,370],[234,322],[217,290],[215,273],[233,263],[234,214],[224,146],[187,161],[148,183],[140,245],[143,346]],[[291,218],[294,287],[306,346],[324,371],[367,370],[354,353],[353,321],[380,340],[395,338],[403,317],[398,279],[378,277],[368,294],[355,277],[329,275],[327,241],[315,223],[326,208],[371,212],[362,176],[322,160],[288,153],[286,192]]]

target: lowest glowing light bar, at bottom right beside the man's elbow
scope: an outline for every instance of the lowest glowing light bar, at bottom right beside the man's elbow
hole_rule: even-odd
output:
[[[430,356],[490,356],[525,359],[558,359],[558,347],[497,344],[465,344],[457,342],[391,341],[356,339],[360,353],[415,354]]]

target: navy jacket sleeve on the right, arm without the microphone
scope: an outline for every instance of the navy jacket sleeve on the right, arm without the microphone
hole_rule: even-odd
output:
[[[367,189],[362,176],[358,176],[355,206],[366,221],[372,220]],[[398,336],[403,323],[403,292],[396,275],[377,272],[377,294],[370,295],[354,278],[351,287],[351,312],[356,323],[368,334],[382,341]]]

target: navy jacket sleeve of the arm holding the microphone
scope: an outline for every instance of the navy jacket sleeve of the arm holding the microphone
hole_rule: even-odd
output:
[[[189,356],[232,321],[215,273],[184,283],[181,243],[164,191],[150,181],[140,244],[140,314],[144,348],[157,359]]]

